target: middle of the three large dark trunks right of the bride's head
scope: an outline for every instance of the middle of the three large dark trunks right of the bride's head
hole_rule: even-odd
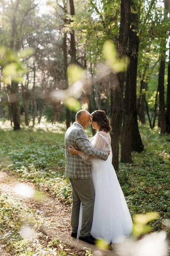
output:
[[[138,13],[136,11],[133,1],[131,1],[131,27],[129,31],[129,58],[130,65],[127,71],[127,82],[125,88],[125,110],[123,115],[123,126],[121,136],[121,162],[133,163],[131,155],[132,144],[132,128],[133,115],[136,113],[136,78],[138,66],[138,51],[139,51],[139,37],[137,36],[138,29]],[[137,113],[136,113],[137,115]]]

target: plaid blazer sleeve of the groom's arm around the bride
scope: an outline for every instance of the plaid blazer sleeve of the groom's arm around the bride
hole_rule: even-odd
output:
[[[87,154],[88,156],[99,158],[101,160],[108,159],[107,152],[92,147],[88,140],[87,134],[83,129],[77,131],[75,143],[81,149],[81,151]]]

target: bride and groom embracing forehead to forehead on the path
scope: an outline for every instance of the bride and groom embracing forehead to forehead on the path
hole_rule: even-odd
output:
[[[90,123],[98,132],[91,140]],[[120,243],[132,232],[132,219],[112,165],[110,121],[105,111],[80,110],[65,133],[66,172],[72,186],[71,236],[90,244]]]

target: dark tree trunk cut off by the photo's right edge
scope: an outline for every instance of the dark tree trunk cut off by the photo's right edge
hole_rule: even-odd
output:
[[[167,133],[170,134],[170,51],[167,73],[167,111],[166,111]]]

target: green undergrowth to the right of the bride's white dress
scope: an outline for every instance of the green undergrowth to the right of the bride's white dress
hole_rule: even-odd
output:
[[[170,235],[170,135],[140,126],[145,150],[133,152],[133,164],[120,163],[117,174],[130,213],[156,211],[160,217],[151,226]]]

